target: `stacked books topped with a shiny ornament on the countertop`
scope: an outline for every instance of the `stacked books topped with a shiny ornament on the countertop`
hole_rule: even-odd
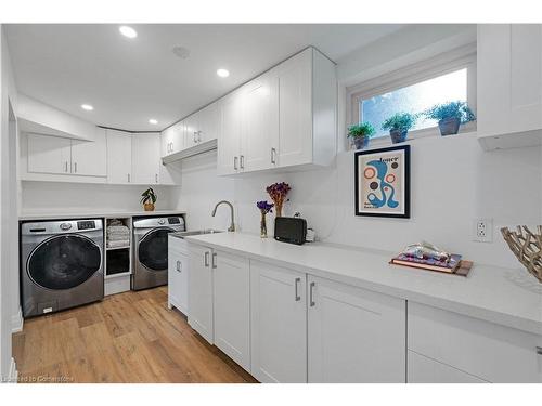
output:
[[[446,252],[426,241],[408,246],[390,263],[462,276],[466,276],[473,266],[472,261],[462,261],[462,256]]]

